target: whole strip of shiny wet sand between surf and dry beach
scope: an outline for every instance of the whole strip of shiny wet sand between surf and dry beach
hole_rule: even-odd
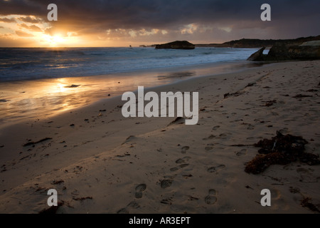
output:
[[[206,63],[184,68],[171,67],[153,71],[149,69],[102,76],[4,82],[0,83],[1,98],[6,100],[5,103],[0,103],[0,128],[15,122],[38,120],[91,105],[107,99],[108,94],[114,97],[132,91],[135,89],[134,84],[153,88],[189,78],[218,76],[221,73],[240,72],[263,65],[265,64],[247,61]],[[68,88],[71,85],[75,88]]]

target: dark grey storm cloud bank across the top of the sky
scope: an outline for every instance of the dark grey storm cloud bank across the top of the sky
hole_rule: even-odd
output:
[[[319,0],[0,0],[0,15],[34,15],[46,21],[50,3],[58,6],[58,22],[51,23],[53,27],[78,33],[116,28],[178,31],[188,24],[232,26],[238,33],[267,28],[278,36],[320,33]],[[260,20],[264,3],[272,6],[272,21]]]

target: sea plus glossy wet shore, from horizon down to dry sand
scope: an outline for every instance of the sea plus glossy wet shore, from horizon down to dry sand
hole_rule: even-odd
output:
[[[198,76],[257,66],[257,49],[0,48],[0,127]]]

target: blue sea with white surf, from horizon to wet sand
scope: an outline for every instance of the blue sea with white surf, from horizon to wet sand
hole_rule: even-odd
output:
[[[250,48],[0,48],[0,82],[245,61]]]

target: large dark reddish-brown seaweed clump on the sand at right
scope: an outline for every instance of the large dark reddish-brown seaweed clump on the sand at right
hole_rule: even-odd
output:
[[[259,174],[270,165],[287,165],[298,159],[308,165],[320,164],[319,155],[304,152],[307,143],[301,136],[282,135],[277,131],[271,140],[263,139],[255,144],[255,147],[261,147],[259,155],[247,162],[245,172]]]

